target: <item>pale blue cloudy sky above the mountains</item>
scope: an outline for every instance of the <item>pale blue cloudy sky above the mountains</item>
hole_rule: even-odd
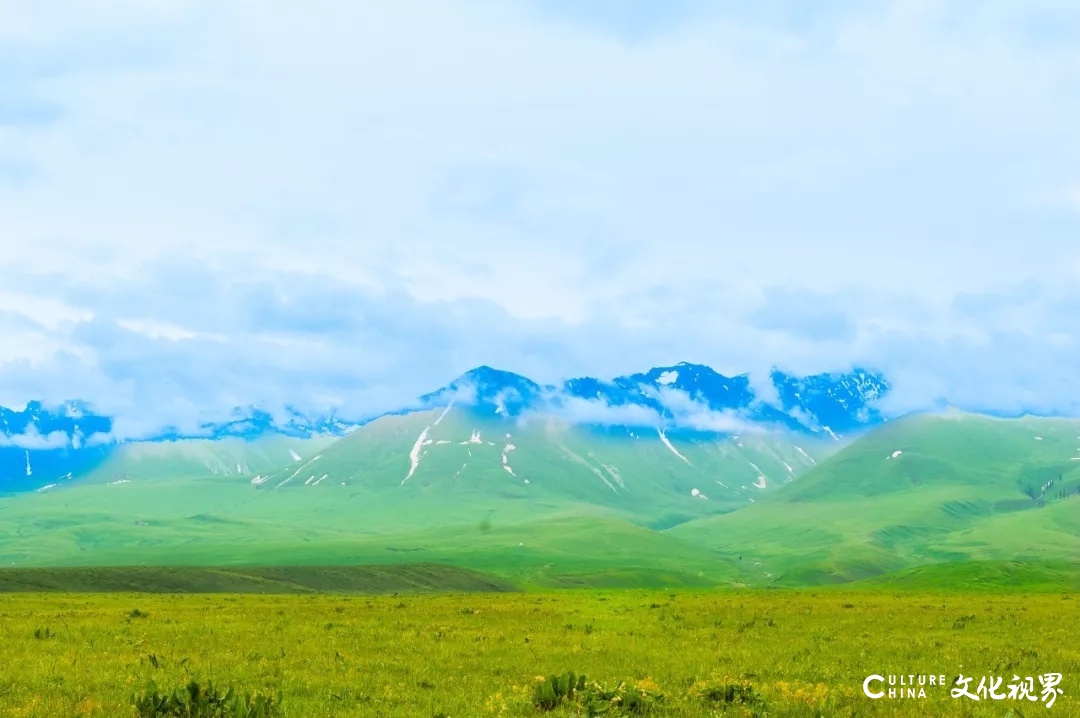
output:
[[[0,405],[867,366],[1080,414],[1069,0],[0,0]]]

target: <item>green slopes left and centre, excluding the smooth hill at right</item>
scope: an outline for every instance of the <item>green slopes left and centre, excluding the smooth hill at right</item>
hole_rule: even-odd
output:
[[[741,570],[659,529],[752,505],[835,446],[460,409],[302,448],[133,445],[84,480],[0,498],[0,566],[421,561],[526,585],[712,585]]]

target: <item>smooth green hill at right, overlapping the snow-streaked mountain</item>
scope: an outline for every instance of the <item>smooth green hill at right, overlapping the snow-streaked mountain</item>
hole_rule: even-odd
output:
[[[784,583],[942,561],[1078,561],[1078,421],[907,417],[753,506],[672,533]]]

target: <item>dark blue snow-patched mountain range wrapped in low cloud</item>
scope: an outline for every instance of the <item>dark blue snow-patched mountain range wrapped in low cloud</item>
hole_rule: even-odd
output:
[[[715,436],[757,428],[838,439],[880,422],[883,418],[875,403],[890,389],[883,376],[861,368],[808,377],[778,370],[770,375],[770,384],[774,396],[759,397],[748,375],[727,377],[686,362],[610,381],[582,377],[561,385],[540,385],[517,374],[481,366],[393,414],[456,404],[507,420],[552,417],[617,434],[662,429],[665,436]],[[275,419],[257,406],[238,407],[224,420],[204,422],[195,431],[166,426],[134,443],[341,437],[378,418],[342,419],[334,411],[311,416],[288,407]],[[0,490],[6,491],[84,476],[133,443],[114,437],[113,418],[95,414],[85,402],[52,408],[31,402],[22,410],[0,407]]]

